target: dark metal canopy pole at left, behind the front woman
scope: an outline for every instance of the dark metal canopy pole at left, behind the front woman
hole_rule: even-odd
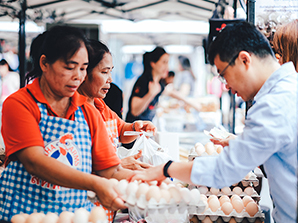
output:
[[[25,86],[25,74],[26,74],[26,32],[25,32],[25,22],[26,22],[26,9],[27,2],[23,0],[21,2],[21,11],[19,12],[19,72],[20,72],[20,87]]]

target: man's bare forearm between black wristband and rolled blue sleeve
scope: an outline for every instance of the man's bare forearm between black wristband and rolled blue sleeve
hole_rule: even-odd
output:
[[[190,180],[193,162],[173,162],[168,168],[168,174],[172,178],[183,182],[192,183]]]

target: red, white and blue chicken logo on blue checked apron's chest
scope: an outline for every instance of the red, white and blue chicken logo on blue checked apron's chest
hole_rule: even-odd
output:
[[[70,167],[79,167],[80,154],[73,139],[74,136],[70,133],[62,135],[58,140],[46,145],[45,154]]]

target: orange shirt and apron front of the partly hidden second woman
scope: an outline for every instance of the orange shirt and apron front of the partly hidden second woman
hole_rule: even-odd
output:
[[[95,98],[94,104],[102,115],[103,120],[105,121],[110,140],[114,148],[116,149],[116,141],[119,140],[119,136],[125,122],[121,118],[119,118],[119,116],[114,111],[112,111],[102,99]]]

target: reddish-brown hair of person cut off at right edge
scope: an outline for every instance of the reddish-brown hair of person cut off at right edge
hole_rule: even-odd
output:
[[[298,19],[276,30],[273,36],[273,49],[280,64],[292,61],[298,72]]]

